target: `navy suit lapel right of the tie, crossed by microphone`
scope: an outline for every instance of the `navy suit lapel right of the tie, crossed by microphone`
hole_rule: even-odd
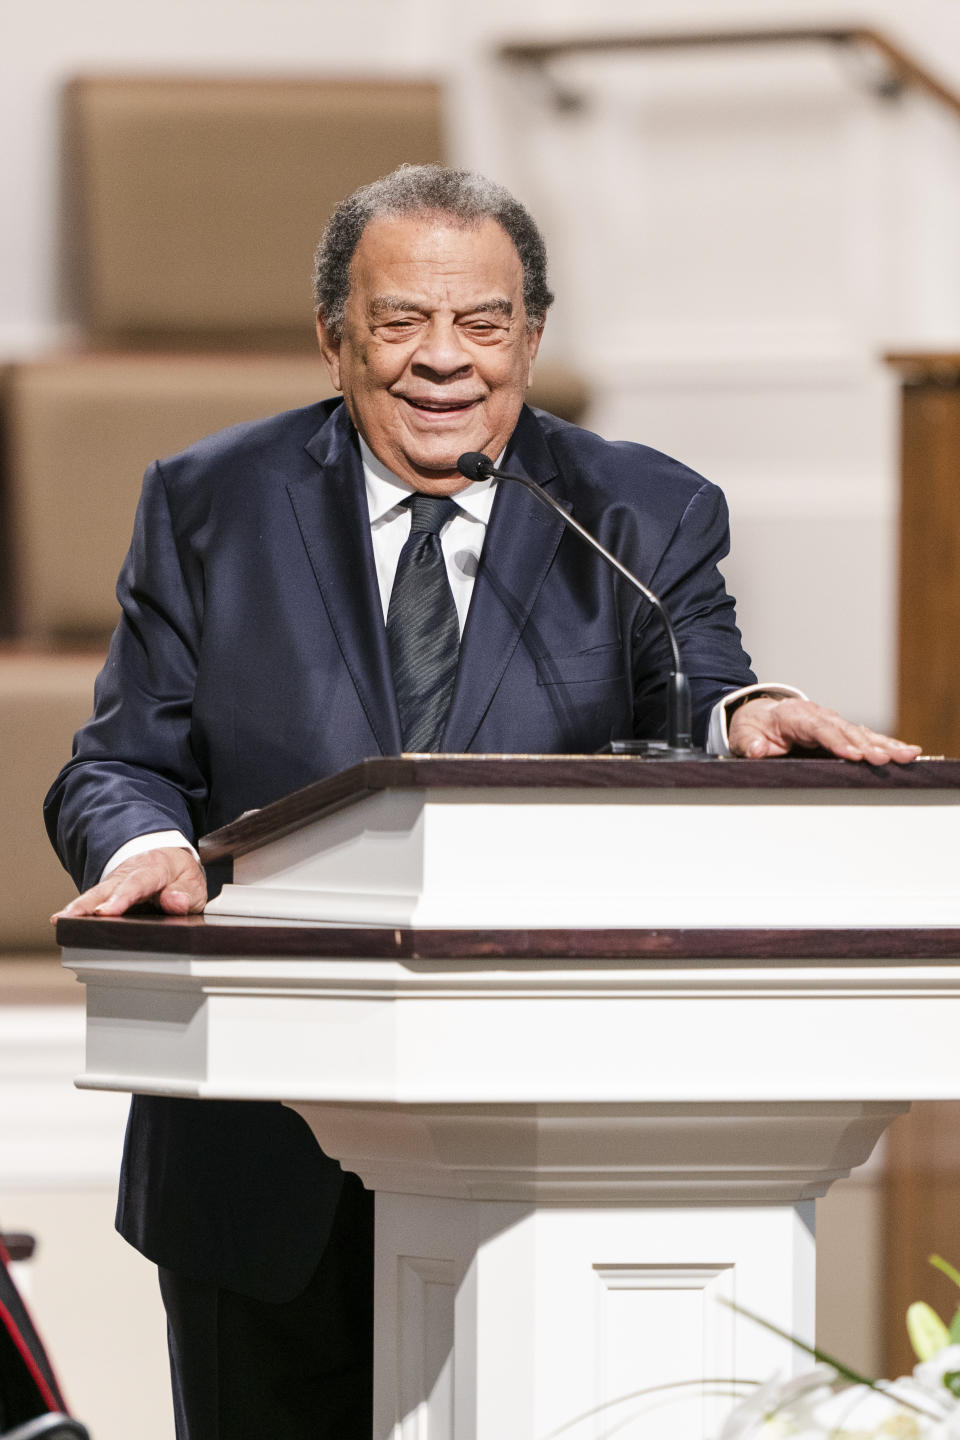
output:
[[[504,458],[504,469],[548,485],[557,467],[535,416],[525,406]],[[469,749],[520,641],[564,531],[528,490],[504,480],[497,488],[471,608],[463,626],[456,688],[443,749]]]

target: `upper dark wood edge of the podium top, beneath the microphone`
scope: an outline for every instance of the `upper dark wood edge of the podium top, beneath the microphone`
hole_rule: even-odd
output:
[[[793,756],[702,765],[626,755],[377,756],[212,831],[199,842],[200,857],[204,864],[236,858],[380,791],[440,788],[960,791],[960,760],[875,766]]]

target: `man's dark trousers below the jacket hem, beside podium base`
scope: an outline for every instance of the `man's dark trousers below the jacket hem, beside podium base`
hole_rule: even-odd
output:
[[[177,1440],[370,1440],[373,1195],[344,1185],[314,1277],[272,1305],[160,1270]]]

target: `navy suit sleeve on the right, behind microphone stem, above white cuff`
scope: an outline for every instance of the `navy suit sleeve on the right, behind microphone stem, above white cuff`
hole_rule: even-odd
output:
[[[728,550],[727,503],[717,485],[704,481],[688,501],[649,582],[676,631],[689,677],[694,739],[699,744],[717,701],[756,680],[737,628],[734,599],[720,573]],[[659,734],[665,678],[674,667],[662,622],[649,605],[638,612],[633,665],[635,734]]]

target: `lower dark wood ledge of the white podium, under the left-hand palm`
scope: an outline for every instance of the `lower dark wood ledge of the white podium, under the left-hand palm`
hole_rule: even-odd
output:
[[[960,960],[960,929],[410,930],[130,914],[59,920],[65,949],[263,959]]]

